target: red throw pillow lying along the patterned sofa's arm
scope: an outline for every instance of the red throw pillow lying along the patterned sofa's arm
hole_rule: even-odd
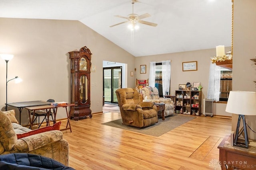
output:
[[[28,137],[30,135],[35,135],[38,133],[43,133],[43,132],[47,132],[47,131],[54,131],[54,130],[60,130],[60,124],[61,121],[59,121],[58,123],[55,123],[52,126],[46,126],[40,129],[35,129],[26,133],[22,133],[22,134],[17,134],[18,139],[23,138],[23,137]]]

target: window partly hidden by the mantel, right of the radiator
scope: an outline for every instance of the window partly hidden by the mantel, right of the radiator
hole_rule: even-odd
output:
[[[220,70],[220,101],[228,101],[229,92],[232,90],[232,70]]]

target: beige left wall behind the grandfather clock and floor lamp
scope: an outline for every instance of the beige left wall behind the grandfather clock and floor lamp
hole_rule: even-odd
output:
[[[92,113],[102,112],[103,61],[127,64],[127,72],[134,70],[135,57],[79,21],[0,18],[0,54],[13,54],[8,62],[8,79],[19,76],[20,84],[8,82],[8,102],[54,99],[70,102],[70,59],[68,52],[87,46],[92,52],[91,73]],[[0,61],[0,108],[4,110],[6,62]],[[127,76],[127,86],[134,77]],[[97,106],[99,102],[99,106]],[[18,110],[16,110],[18,113]],[[58,109],[57,119],[65,118],[65,110]],[[17,119],[19,116],[17,114]],[[28,123],[26,109],[22,111],[22,125]]]

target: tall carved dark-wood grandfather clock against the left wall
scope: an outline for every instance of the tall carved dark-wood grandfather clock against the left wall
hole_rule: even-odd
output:
[[[90,68],[91,56],[90,50],[84,46],[79,51],[70,51],[71,59],[71,103],[75,104],[71,108],[70,118],[75,121],[85,119],[87,116],[92,118],[90,109]]]

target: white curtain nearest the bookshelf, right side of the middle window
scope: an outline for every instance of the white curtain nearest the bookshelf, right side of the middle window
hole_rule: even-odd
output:
[[[171,79],[171,61],[162,61],[162,84],[163,84],[163,95],[170,90],[170,79]]]

